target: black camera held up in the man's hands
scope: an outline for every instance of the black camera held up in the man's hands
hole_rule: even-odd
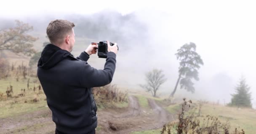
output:
[[[96,43],[92,43],[94,45],[96,45]],[[109,42],[110,46],[113,46],[114,43]],[[118,46],[117,46],[117,50],[118,50]],[[107,58],[107,41],[100,41],[98,43],[98,57],[99,58]]]

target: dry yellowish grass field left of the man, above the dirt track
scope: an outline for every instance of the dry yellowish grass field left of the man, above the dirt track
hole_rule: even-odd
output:
[[[29,77],[29,87],[32,90],[27,89],[27,80],[28,79],[20,79],[19,82],[15,80],[15,78],[9,77],[7,80],[0,80],[0,93],[3,93],[4,98],[0,99],[0,118],[15,116],[22,113],[28,113],[36,110],[40,110],[43,108],[47,108],[47,103],[45,101],[45,94],[43,93],[43,89],[39,91],[38,88],[34,91],[35,87],[38,87],[39,83],[37,78]],[[12,98],[6,98],[6,89],[10,85],[13,86],[13,94]],[[21,89],[26,89],[21,91]],[[14,97],[18,96],[18,94],[24,93],[25,96],[22,97]],[[33,100],[37,98],[37,102]],[[25,103],[26,101],[26,103]]]

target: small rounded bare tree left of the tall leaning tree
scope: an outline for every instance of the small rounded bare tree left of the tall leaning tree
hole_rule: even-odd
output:
[[[150,72],[147,72],[145,76],[147,84],[140,85],[141,88],[146,89],[147,92],[150,92],[152,96],[156,97],[156,92],[160,85],[162,85],[167,80],[163,74],[163,70],[154,69]]]

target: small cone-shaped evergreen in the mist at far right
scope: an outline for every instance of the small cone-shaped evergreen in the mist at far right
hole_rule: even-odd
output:
[[[250,87],[246,84],[246,80],[244,77],[240,78],[240,82],[235,88],[236,93],[231,94],[232,99],[229,106],[237,106],[237,107],[252,107],[251,104],[251,93],[249,93]]]

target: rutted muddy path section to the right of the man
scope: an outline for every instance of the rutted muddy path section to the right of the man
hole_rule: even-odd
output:
[[[126,112],[99,118],[99,124],[104,131],[99,131],[98,134],[130,134],[133,131],[159,129],[174,120],[173,115],[157,105],[153,99],[148,99],[150,109],[142,109],[134,96],[130,96],[129,100],[130,105]]]

